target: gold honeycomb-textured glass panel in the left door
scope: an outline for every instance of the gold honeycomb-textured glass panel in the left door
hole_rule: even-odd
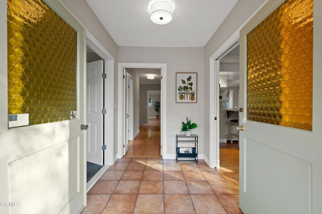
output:
[[[41,0],[8,0],[8,114],[29,125],[76,110],[77,35]]]

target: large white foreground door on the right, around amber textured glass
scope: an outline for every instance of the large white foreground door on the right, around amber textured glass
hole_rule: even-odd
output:
[[[247,45],[249,45],[247,44],[247,37],[249,36],[249,33],[256,26],[258,26],[259,23],[261,23],[264,20],[264,18],[266,18],[270,13],[272,13],[272,11],[279,7],[279,5],[282,4],[282,2],[279,0],[269,1],[259,11],[259,13],[255,15],[254,18],[240,31],[239,108],[243,108],[244,111],[239,112],[239,126],[243,125],[245,130],[239,131],[239,205],[245,211],[245,213],[322,213],[322,147],[320,140],[322,139],[320,125],[322,121],[320,109],[320,91],[322,91],[322,76],[320,75],[320,69],[322,67],[322,63],[319,59],[321,56],[322,44],[321,41],[318,41],[318,38],[321,38],[322,33],[321,11],[316,11],[316,13],[314,11],[315,40],[313,56],[315,57],[315,60],[313,60],[312,131],[290,128],[280,125],[273,125],[264,122],[255,122],[254,119],[252,121],[248,120],[248,118],[250,118],[248,116],[253,113],[251,113],[251,111],[248,110],[248,108],[252,108],[252,106],[249,106],[247,102],[250,102],[251,100],[253,101],[253,99],[251,94],[248,93],[248,90],[251,90],[251,88],[247,87],[247,81],[248,79],[250,79],[250,76],[247,76],[247,73],[250,72],[250,69],[247,68],[247,66],[252,66],[252,63],[255,62],[252,61],[249,64],[247,63],[247,52],[250,50],[249,54],[251,55],[251,51],[253,50],[252,48],[247,48]],[[297,4],[304,5],[307,4],[307,2],[304,3],[301,1],[297,1]],[[294,5],[296,4],[293,4],[293,6]],[[319,8],[321,7],[321,5],[321,1],[314,1],[314,8]],[[289,8],[286,7],[283,11],[287,12],[289,11],[288,9]],[[297,10],[299,9],[296,8],[296,11]],[[300,14],[301,13],[298,12],[297,15]],[[308,16],[310,15],[312,15],[311,12],[308,13]],[[306,22],[303,20],[304,19],[302,19],[301,17],[297,17],[297,21],[301,21],[301,23],[305,25]],[[274,21],[269,21],[271,22],[270,26],[274,26]],[[277,23],[280,23],[280,20],[278,20]],[[262,25],[262,23],[260,25]],[[257,37],[261,38],[262,35],[264,37],[264,31],[264,29],[261,30],[261,33],[257,34]],[[269,31],[272,32],[273,30],[269,29]],[[305,32],[307,33],[307,31]],[[272,33],[268,37],[272,37],[274,35],[275,34]],[[303,35],[301,35],[300,33],[295,35],[296,37],[303,39]],[[306,36],[309,37],[310,35],[312,34],[308,33]],[[290,36],[290,34],[288,34],[287,37],[288,36]],[[294,38],[289,39],[285,37],[282,39],[284,39],[284,42],[286,41],[287,43],[292,43],[292,41],[294,41]],[[296,39],[297,38],[295,38],[295,40]],[[276,42],[277,40],[273,41]],[[252,44],[253,41],[249,43]],[[261,43],[262,42],[260,41],[257,46],[259,46],[259,44]],[[305,42],[304,44],[307,44],[307,42]],[[285,45],[285,43],[283,43],[283,45]],[[293,52],[292,48],[296,49],[297,51],[294,50]],[[293,57],[295,53],[298,53],[298,50],[301,50],[300,54],[303,53],[303,49],[301,49],[300,46],[296,46],[296,48],[287,48],[286,50],[290,51],[290,53],[286,56],[283,55],[281,57],[282,62],[283,57]],[[262,52],[265,51],[267,51],[267,49],[265,49],[264,51],[263,49],[257,50],[257,52],[255,52],[254,55],[262,54]],[[273,53],[276,54],[276,52],[277,51]],[[250,58],[252,59],[252,57]],[[299,58],[297,58],[295,61],[297,62],[298,59]],[[265,59],[263,59],[263,64],[265,64],[265,62]],[[289,61],[286,63],[287,64],[282,63],[283,66],[288,65]],[[297,65],[300,66],[299,64]],[[309,67],[310,65],[305,64],[305,66]],[[296,66],[287,67],[283,70],[283,72],[291,72],[291,69],[293,68],[297,69]],[[260,73],[257,74],[260,75]],[[272,74],[272,72],[270,72],[269,74]],[[281,75],[284,74],[281,72]],[[295,85],[301,89],[305,88],[309,84],[312,85],[312,83],[309,80],[310,78],[308,78],[308,76],[306,75],[301,76],[301,78],[298,78],[296,81],[293,81],[292,79],[293,77],[296,77],[295,73],[292,73],[291,75],[286,75],[286,77],[287,78],[283,77],[283,82],[281,84],[277,84],[277,86],[292,86],[291,90],[288,91],[291,93],[294,93],[294,91],[296,91],[296,88],[293,88],[294,82]],[[273,79],[270,80],[274,81]],[[301,80],[307,82],[305,84],[302,84]],[[255,81],[255,84],[262,84],[263,82],[261,83],[260,81],[260,79],[258,81]],[[249,80],[249,82],[252,81]],[[266,81],[266,84],[271,83],[269,81]],[[265,93],[265,90],[268,88],[263,88],[263,91]],[[259,90],[257,93],[259,93],[259,95],[261,96],[263,95],[263,91]],[[284,89],[282,88],[282,92],[280,92],[281,97],[281,94],[283,93]],[[301,99],[301,97],[306,97],[306,94],[295,94],[294,97]],[[309,99],[309,97],[307,98]],[[264,101],[261,100],[262,99],[259,98],[257,101],[252,103],[264,103]],[[282,100],[282,98],[280,98],[280,100]],[[286,111],[287,114],[291,115],[295,111],[298,111],[298,109],[292,109],[294,107],[293,101],[286,102],[282,100],[281,102],[282,106],[285,107],[287,107],[287,105],[291,103],[290,108]],[[294,101],[294,103],[296,102]],[[265,106],[265,104],[262,106]],[[261,110],[262,109],[260,108],[259,111]],[[281,108],[280,112],[283,111]],[[266,117],[267,112],[264,111],[260,114],[262,113],[263,115],[259,116]],[[305,107],[304,110],[299,114],[299,116],[302,117],[307,116],[309,114],[309,109]],[[282,120],[284,120],[284,116],[285,115],[283,115]],[[286,118],[287,117],[285,117],[285,119]]]

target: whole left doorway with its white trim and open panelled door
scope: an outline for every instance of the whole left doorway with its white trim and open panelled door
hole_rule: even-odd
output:
[[[94,79],[100,82],[100,85],[89,79],[86,82],[88,94],[86,117],[89,127],[87,152],[93,152],[94,155],[97,153],[97,159],[87,155],[87,162],[89,162],[87,171],[90,172],[87,178],[87,190],[89,191],[109,165],[114,163],[114,57],[90,32],[87,32],[87,62],[87,78],[96,76]],[[96,121],[93,122],[95,117]],[[89,139],[91,145],[89,145]]]

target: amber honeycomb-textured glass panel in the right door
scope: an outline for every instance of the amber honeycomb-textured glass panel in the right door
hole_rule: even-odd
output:
[[[312,130],[313,0],[290,0],[247,35],[247,120]]]

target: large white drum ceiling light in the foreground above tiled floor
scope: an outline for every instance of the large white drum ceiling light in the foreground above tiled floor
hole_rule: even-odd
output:
[[[150,19],[158,25],[165,25],[172,20],[173,7],[165,1],[158,1],[150,6]]]

